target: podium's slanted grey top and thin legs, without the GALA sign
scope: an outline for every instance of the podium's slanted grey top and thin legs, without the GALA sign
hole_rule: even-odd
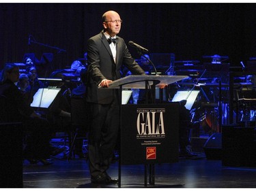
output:
[[[160,86],[160,84],[173,84],[177,81],[184,80],[186,75],[128,75],[119,80],[111,82],[109,88],[119,88],[119,101],[122,105],[122,89],[123,88],[145,88],[151,84],[153,88]],[[122,109],[119,109],[120,128],[122,129]],[[120,136],[121,139],[121,136]],[[121,140],[120,140],[121,143]],[[145,164],[146,165],[146,164]],[[118,187],[121,187],[121,150],[119,152],[119,168],[118,168]],[[150,183],[154,184],[154,164],[150,164]],[[147,186],[146,168],[144,185]]]

